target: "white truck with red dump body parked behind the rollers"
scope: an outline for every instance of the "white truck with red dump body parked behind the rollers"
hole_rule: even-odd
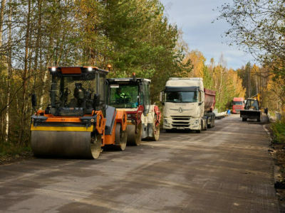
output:
[[[170,77],[160,92],[163,108],[163,129],[201,130],[214,127],[213,113],[216,92],[204,88],[201,77]]]

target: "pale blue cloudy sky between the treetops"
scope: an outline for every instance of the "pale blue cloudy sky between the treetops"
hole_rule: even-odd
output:
[[[209,64],[211,58],[219,62],[223,55],[227,67],[234,70],[254,62],[252,55],[227,44],[229,38],[222,38],[229,25],[224,20],[214,21],[219,16],[218,6],[231,0],[160,0],[165,6],[165,16],[170,23],[177,24],[184,33],[183,39],[190,50],[199,50]],[[214,9],[214,11],[213,11]],[[212,23],[214,21],[214,23]]]

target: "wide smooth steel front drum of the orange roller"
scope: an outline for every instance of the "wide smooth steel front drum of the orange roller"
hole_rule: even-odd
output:
[[[98,158],[101,136],[88,131],[31,131],[36,157]]]

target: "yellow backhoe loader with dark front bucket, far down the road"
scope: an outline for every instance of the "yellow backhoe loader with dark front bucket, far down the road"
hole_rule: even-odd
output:
[[[257,122],[261,121],[261,94],[257,93],[251,98],[247,99],[244,110],[240,111],[240,117],[242,121],[247,119],[257,119]]]

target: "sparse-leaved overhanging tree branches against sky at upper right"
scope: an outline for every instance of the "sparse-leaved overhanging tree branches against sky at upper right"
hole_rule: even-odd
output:
[[[239,45],[277,78],[285,77],[285,1],[235,0],[219,11],[217,19],[230,26],[225,32],[229,45]]]

